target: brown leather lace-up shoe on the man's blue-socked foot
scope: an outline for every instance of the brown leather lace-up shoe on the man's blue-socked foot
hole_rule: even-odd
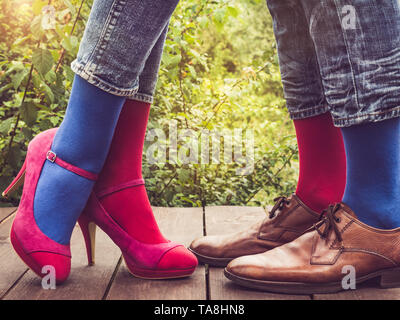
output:
[[[328,293],[343,290],[342,280],[349,274],[345,266],[354,267],[356,285],[379,278],[381,287],[400,286],[400,228],[375,229],[357,220],[345,204],[331,205],[301,237],[262,254],[237,258],[225,275],[265,291]]]

